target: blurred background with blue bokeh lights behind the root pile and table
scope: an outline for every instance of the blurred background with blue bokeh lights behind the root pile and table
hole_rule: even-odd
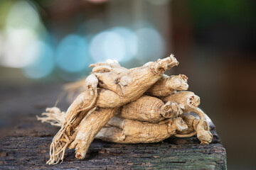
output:
[[[167,74],[186,74],[201,97],[228,169],[255,169],[255,14],[249,0],[0,0],[1,137],[39,114],[19,106],[53,106],[89,64],[139,67],[173,53],[180,64]]]

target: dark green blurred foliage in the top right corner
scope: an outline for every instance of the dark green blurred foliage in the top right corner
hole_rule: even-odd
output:
[[[219,23],[250,25],[255,27],[255,1],[215,0],[188,1],[196,28],[206,28]]]

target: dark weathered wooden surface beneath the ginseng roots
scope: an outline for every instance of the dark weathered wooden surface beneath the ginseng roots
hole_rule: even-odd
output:
[[[164,142],[137,145],[95,140],[85,159],[75,159],[74,150],[68,149],[62,164],[49,166],[46,161],[50,142],[58,128],[40,123],[35,116],[50,102],[48,98],[53,99],[57,93],[44,91],[47,87],[56,88],[52,85],[31,86],[34,91],[31,94],[44,96],[44,99],[27,99],[31,103],[19,108],[18,111],[26,113],[18,117],[18,125],[1,140],[0,169],[226,169],[226,152],[211,122],[210,130],[214,137],[210,145],[200,145],[196,137],[171,137]],[[21,99],[13,101],[18,100],[19,104],[28,102]],[[42,104],[42,100],[46,103]]]

